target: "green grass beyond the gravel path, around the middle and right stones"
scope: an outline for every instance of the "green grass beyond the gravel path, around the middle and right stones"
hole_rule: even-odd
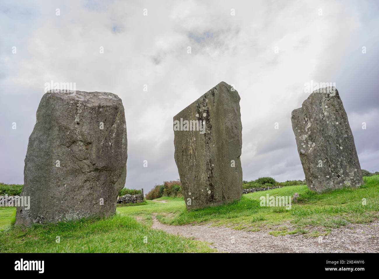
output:
[[[292,208],[261,207],[260,197],[293,196],[299,193],[299,202]],[[362,205],[362,199],[366,205]],[[324,232],[333,227],[349,223],[369,223],[377,218],[379,211],[379,176],[365,177],[365,185],[358,189],[344,188],[331,193],[316,194],[306,185],[288,186],[268,191],[245,194],[240,201],[218,207],[187,212],[183,199],[161,197],[167,203],[152,201],[138,208],[122,208],[125,215],[139,216],[151,223],[151,215],[157,214],[160,222],[171,225],[212,223],[213,226],[228,226],[234,229],[257,231],[266,227],[276,229],[285,222],[293,225],[292,230],[280,230],[279,234],[292,234],[294,231],[307,233],[311,227],[321,226]],[[320,234],[324,234],[320,232]],[[275,234],[275,233],[274,233]],[[313,233],[314,234],[314,233]]]

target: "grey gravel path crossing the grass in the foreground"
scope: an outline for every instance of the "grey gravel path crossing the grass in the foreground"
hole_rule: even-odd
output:
[[[227,227],[210,227],[209,224],[170,226],[161,224],[155,216],[152,217],[153,229],[206,241],[219,252],[379,252],[379,220],[370,224],[351,224],[332,229],[327,236],[306,238],[300,234],[275,237],[268,234],[270,230],[267,229],[247,232]],[[289,223],[284,225],[291,226]]]

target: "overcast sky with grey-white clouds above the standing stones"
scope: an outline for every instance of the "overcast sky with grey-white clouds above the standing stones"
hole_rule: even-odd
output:
[[[2,1],[0,182],[23,183],[28,138],[51,80],[121,97],[125,185],[145,193],[179,178],[172,117],[221,81],[241,96],[244,180],[304,179],[290,118],[311,80],[335,82],[360,165],[379,171],[378,3]]]

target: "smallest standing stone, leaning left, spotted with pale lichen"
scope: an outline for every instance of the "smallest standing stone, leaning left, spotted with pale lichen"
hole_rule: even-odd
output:
[[[314,91],[292,111],[300,160],[308,188],[318,193],[363,183],[354,138],[334,87]]]

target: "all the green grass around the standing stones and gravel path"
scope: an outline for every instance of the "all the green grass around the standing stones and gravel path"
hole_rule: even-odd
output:
[[[379,176],[365,177],[358,189],[315,194],[305,185],[244,195],[229,205],[187,212],[183,198],[161,197],[144,205],[117,207],[117,215],[57,225],[38,225],[25,231],[11,227],[14,208],[0,208],[0,252],[212,252],[205,243],[153,230],[152,215],[171,225],[211,223],[233,229],[269,229],[272,235],[301,233],[316,237],[333,227],[369,223],[379,212]],[[292,208],[261,207],[260,196],[293,196]],[[365,204],[362,204],[363,201]],[[165,203],[160,201],[166,201]],[[136,221],[136,218],[139,221]],[[290,223],[292,229],[282,226]],[[310,227],[320,227],[309,233]],[[57,239],[60,243],[57,243]],[[145,240],[145,241],[144,241]],[[146,241],[147,240],[147,241]],[[147,243],[145,243],[147,242]]]

